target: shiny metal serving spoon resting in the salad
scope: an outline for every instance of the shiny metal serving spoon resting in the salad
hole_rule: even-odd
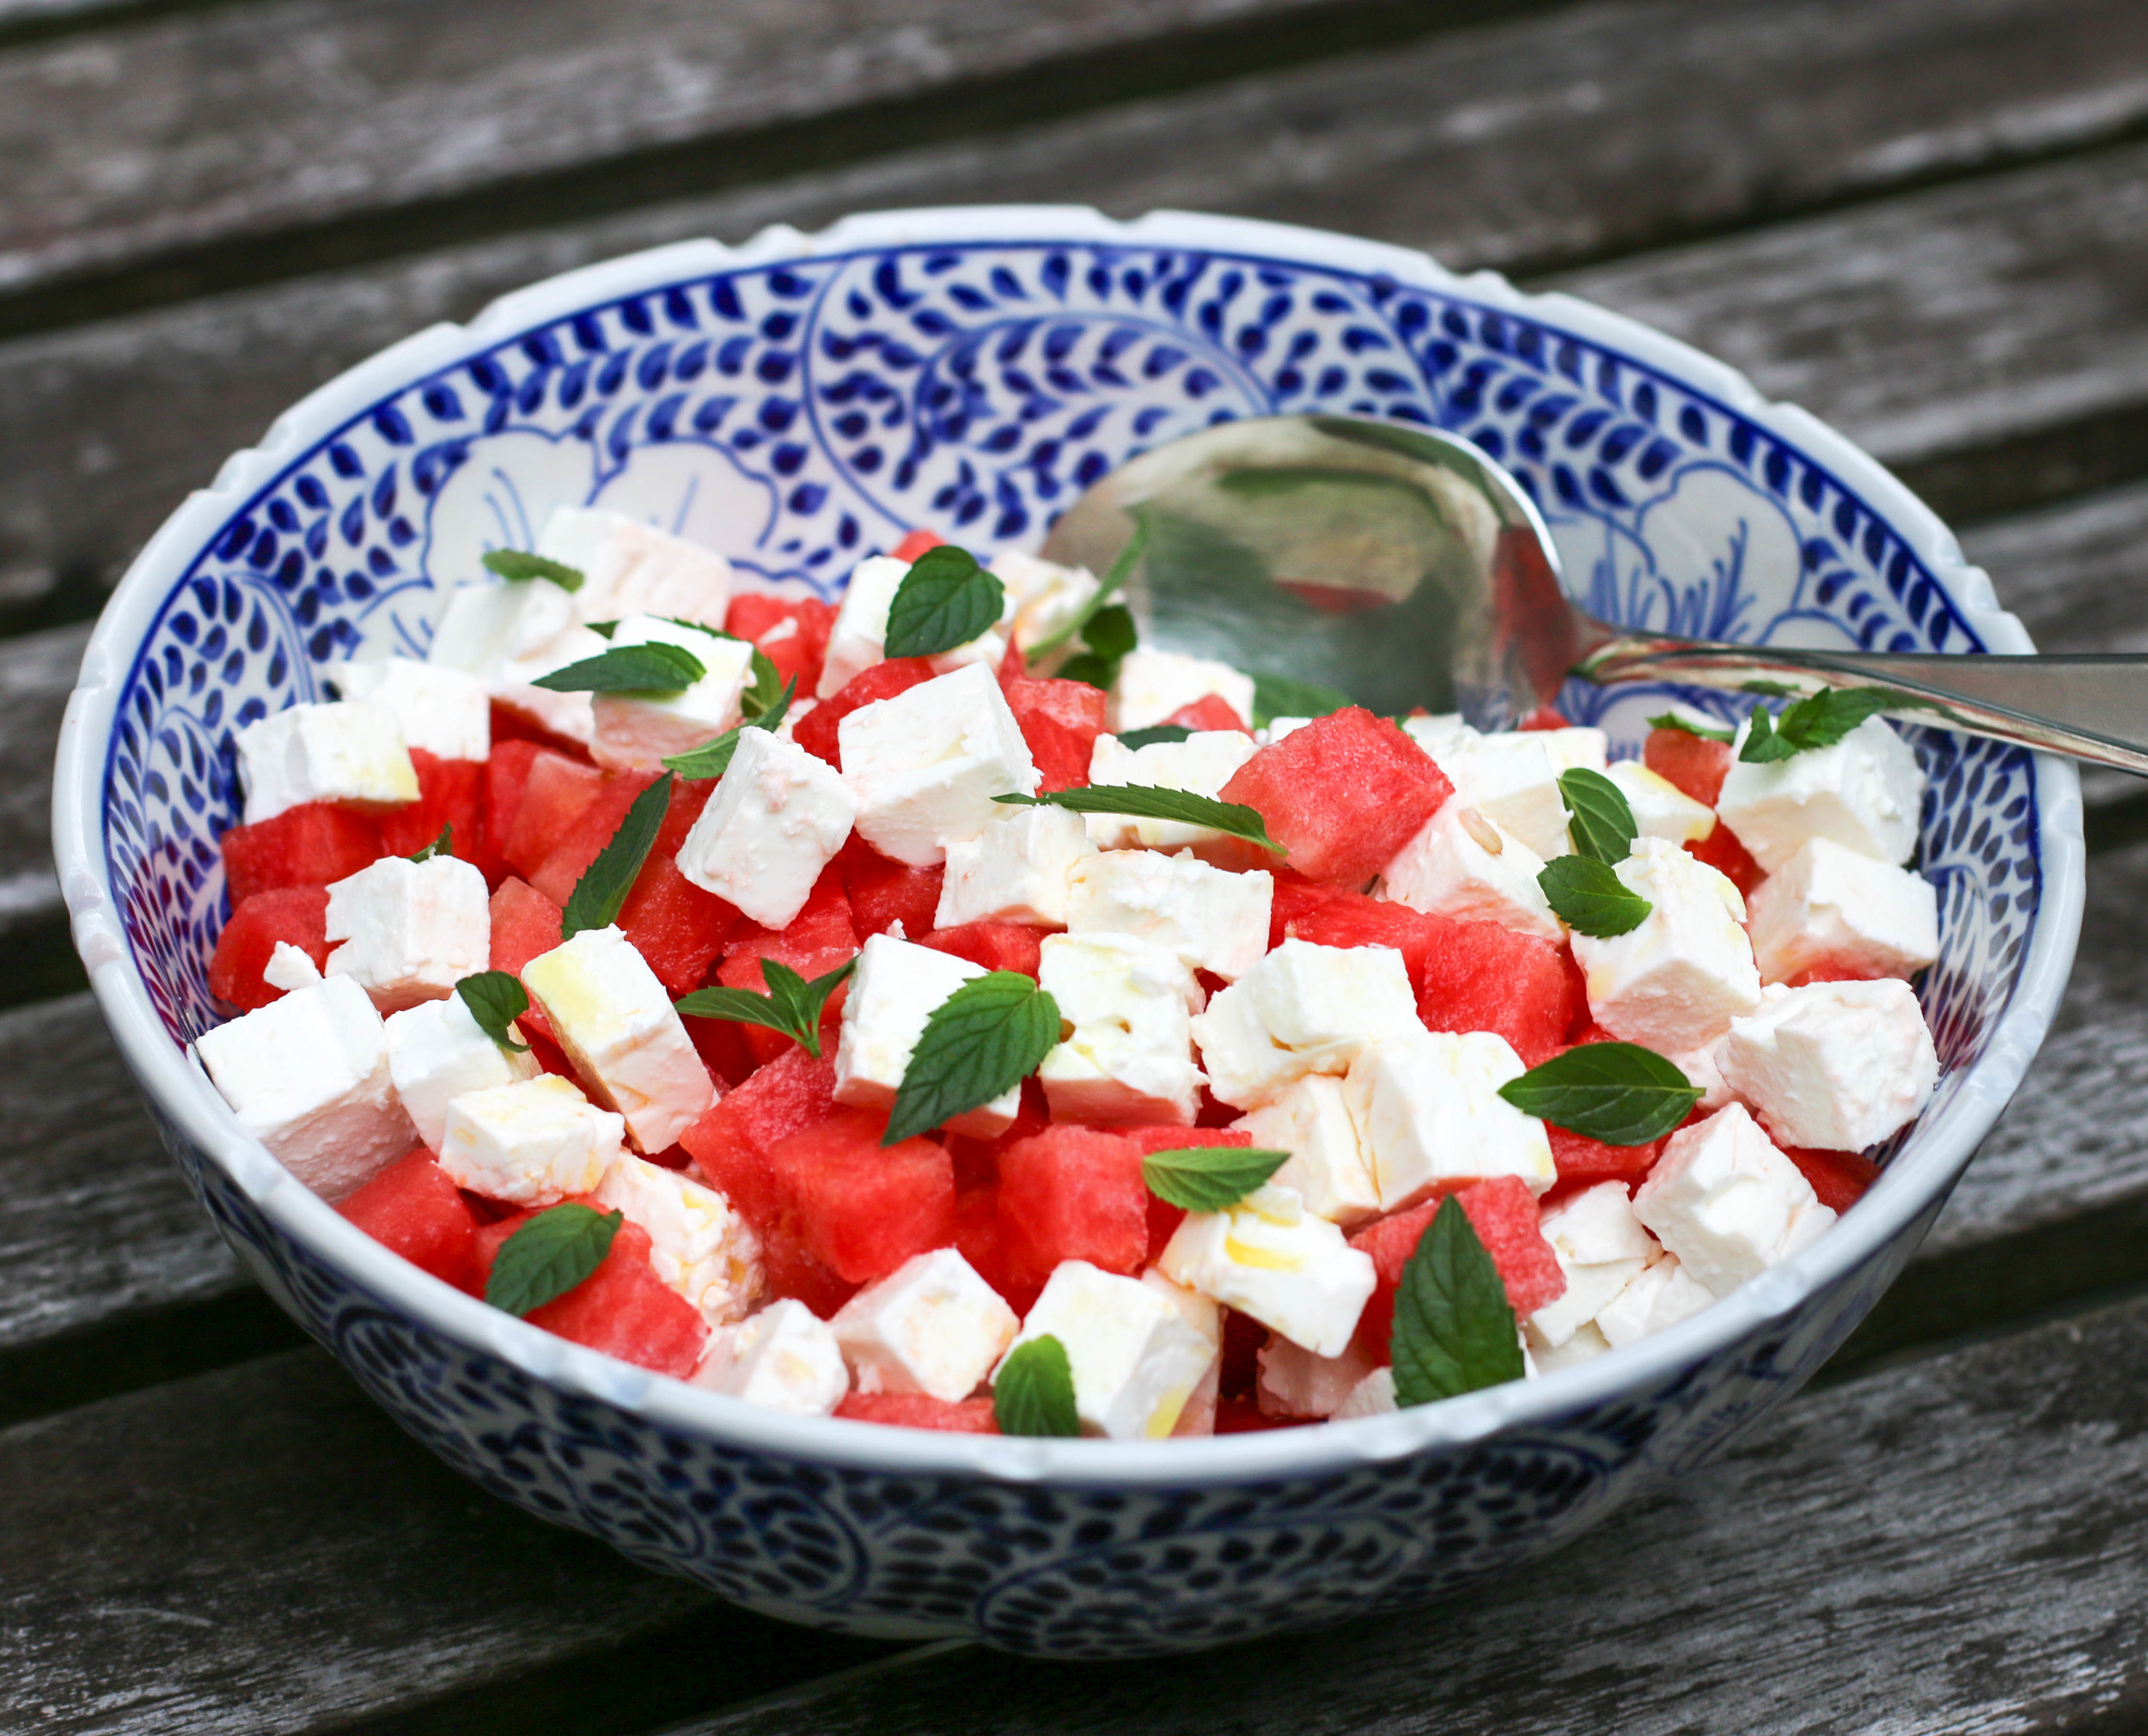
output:
[[[1574,608],[1514,477],[1413,423],[1261,417],[1171,440],[1089,488],[1048,561],[1121,567],[1173,649],[1289,672],[1383,713],[1504,728],[1568,675],[1781,692],[1886,685],[1890,713],[2148,773],[2148,657],[1950,657],[1718,645]]]

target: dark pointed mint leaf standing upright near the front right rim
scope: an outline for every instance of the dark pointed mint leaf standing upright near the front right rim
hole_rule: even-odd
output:
[[[1521,1332],[1461,1201],[1439,1201],[1433,1227],[1394,1291],[1394,1403],[1431,1405],[1521,1379]]]

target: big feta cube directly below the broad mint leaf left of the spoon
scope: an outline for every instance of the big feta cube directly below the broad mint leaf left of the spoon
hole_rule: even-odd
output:
[[[939,675],[861,705],[836,726],[857,829],[881,855],[930,868],[947,844],[1005,812],[995,795],[1035,795],[1037,767],[992,670]]]

